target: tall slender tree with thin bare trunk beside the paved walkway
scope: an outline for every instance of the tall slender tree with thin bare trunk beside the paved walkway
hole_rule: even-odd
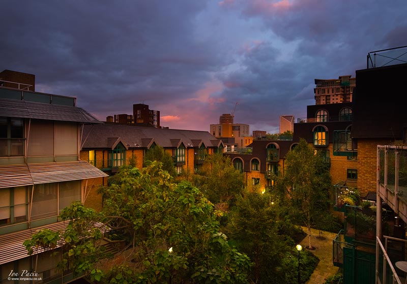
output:
[[[309,248],[311,245],[311,227],[316,217],[327,210],[331,176],[324,159],[305,139],[300,139],[297,147],[286,155],[286,168],[280,177],[288,210],[301,224],[307,227]]]

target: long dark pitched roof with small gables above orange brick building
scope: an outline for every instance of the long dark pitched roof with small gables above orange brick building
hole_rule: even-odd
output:
[[[167,128],[140,127],[114,123],[84,125],[83,149],[111,149],[109,137],[120,137],[129,149],[150,148],[153,143],[164,148],[178,148],[181,143],[186,148],[223,146],[222,141],[207,131],[180,130]]]

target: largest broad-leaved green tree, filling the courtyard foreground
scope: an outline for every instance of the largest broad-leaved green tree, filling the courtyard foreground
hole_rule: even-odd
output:
[[[125,247],[104,263],[108,270],[96,263],[82,271],[110,283],[248,283],[249,258],[229,246],[212,203],[190,183],[171,181],[157,161],[141,170],[120,168],[101,189],[101,217]],[[86,220],[86,215],[73,219]],[[87,253],[94,256],[93,250]]]

